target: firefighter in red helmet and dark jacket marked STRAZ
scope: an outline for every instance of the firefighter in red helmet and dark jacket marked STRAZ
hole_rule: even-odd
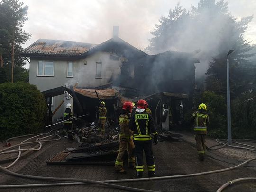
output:
[[[135,145],[136,177],[142,178],[144,171],[143,150],[146,155],[148,176],[155,176],[155,162],[152,151],[151,134],[154,136],[154,144],[158,143],[158,134],[154,126],[152,116],[146,113],[147,102],[139,100],[137,109],[129,121],[129,129],[133,131],[133,142]]]

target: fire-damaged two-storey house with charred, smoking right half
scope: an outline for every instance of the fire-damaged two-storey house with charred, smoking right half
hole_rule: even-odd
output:
[[[117,34],[99,45],[39,39],[22,52],[30,58],[29,83],[45,94],[53,120],[62,117],[64,111],[64,96],[55,92],[60,87],[68,88],[73,95],[75,114],[89,112],[91,119],[95,117],[95,105],[99,105],[95,89],[100,99],[108,100],[107,115],[111,118],[123,100],[145,98],[157,120],[163,105],[169,108],[169,102],[174,102],[166,98],[178,98],[180,103],[192,95],[193,64],[198,62],[192,54],[148,55]]]

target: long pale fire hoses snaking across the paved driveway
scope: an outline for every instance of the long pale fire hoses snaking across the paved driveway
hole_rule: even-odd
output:
[[[48,133],[47,133],[48,134]],[[42,134],[40,135],[37,135],[37,136],[41,136]],[[53,135],[56,135],[56,134],[52,134],[50,136],[53,136]],[[35,138],[37,136],[34,136],[32,138]],[[50,137],[50,136],[46,136],[46,137]],[[44,137],[44,138],[46,138]],[[29,139],[32,139],[32,138],[29,138]],[[27,139],[27,140],[29,140]],[[42,138],[43,139],[43,138]],[[60,138],[58,139],[55,139],[55,140],[59,140]],[[25,141],[27,141],[25,140]],[[36,142],[40,143],[38,141],[39,139],[37,139]],[[34,143],[34,142],[21,142],[20,144],[17,144],[17,145],[14,145],[14,146],[11,146],[9,148],[6,148],[4,150],[7,150],[7,149],[10,149],[10,148],[13,148],[15,146],[19,146],[19,150],[15,150],[15,151],[19,151],[19,156],[20,156],[20,153],[21,153],[21,150],[20,149],[20,145],[25,145],[25,144],[29,144],[29,143]],[[43,141],[52,141],[52,140],[41,140],[41,142]],[[219,142],[219,140],[217,139],[216,140],[217,142]],[[220,144],[223,144],[223,145],[227,145],[226,143],[221,143],[219,142]],[[245,145],[245,144],[243,144]],[[238,146],[233,146],[233,145],[227,145],[227,146],[230,146],[230,147],[238,147]],[[250,146],[250,145],[246,145],[246,146],[249,146],[249,147],[254,147],[254,146]],[[41,144],[40,144],[40,147],[41,148]],[[39,150],[39,148],[37,150]],[[239,147],[241,149],[247,149],[247,150],[253,150],[253,149],[250,149],[250,148],[245,148],[245,147]],[[255,148],[255,147],[254,147]],[[2,151],[4,150],[0,150],[0,154],[2,154]],[[14,151],[14,150],[13,150]],[[12,151],[12,152],[13,152]],[[18,156],[18,158],[19,158]],[[15,162],[18,160],[18,158],[15,160]],[[9,165],[8,167],[2,167],[0,166],[0,170],[2,170],[3,172],[9,174],[9,175],[14,175],[14,176],[19,176],[19,177],[25,177],[25,178],[32,178],[32,179],[40,179],[40,180],[55,180],[55,181],[74,181],[74,183],[55,183],[55,184],[27,184],[27,185],[0,185],[0,188],[13,188],[13,187],[38,187],[38,186],[55,186],[55,185],[73,185],[73,184],[85,184],[85,183],[88,183],[88,184],[100,184],[100,185],[105,185],[105,186],[109,186],[109,187],[113,187],[113,188],[118,188],[118,189],[124,189],[124,190],[129,190],[129,191],[146,191],[146,192],[152,192],[151,190],[144,190],[144,189],[137,189],[137,188],[131,188],[131,187],[124,187],[124,186],[120,186],[120,185],[115,185],[115,184],[109,184],[109,183],[119,183],[119,182],[134,182],[134,181],[147,181],[147,180],[160,180],[160,179],[172,179],[172,178],[182,178],[182,177],[190,177],[190,176],[198,176],[198,175],[207,175],[207,174],[213,174],[213,173],[219,173],[219,172],[224,172],[224,171],[229,171],[229,170],[232,170],[232,169],[235,169],[235,168],[238,168],[240,166],[243,166],[253,160],[256,160],[256,158],[252,158],[252,159],[248,159],[246,161],[244,161],[243,163],[237,165],[237,166],[233,166],[233,167],[229,167],[229,168],[225,168],[225,169],[219,169],[219,170],[214,170],[214,171],[207,171],[207,172],[201,172],[201,173],[194,173],[194,174],[185,174],[185,175],[172,175],[172,176],[161,176],[161,177],[153,177],[153,178],[140,178],[140,179],[120,179],[120,180],[105,180],[105,181],[92,181],[92,180],[88,180],[88,179],[76,179],[76,178],[59,178],[59,177],[42,177],[42,176],[33,176],[33,175],[23,175],[23,174],[18,174],[18,173],[15,173],[15,172],[12,172],[12,171],[9,171],[7,170],[7,168],[9,168],[11,165],[13,165],[15,162],[13,162],[11,165]],[[234,184],[236,182],[239,182],[239,181],[245,181],[245,180],[256,180],[256,178],[254,177],[248,177],[248,178],[239,178],[239,179],[235,179],[233,181],[229,181],[227,182],[226,184],[223,184],[218,190],[217,192],[221,192],[224,188],[226,188],[227,186],[229,186],[230,184]]]

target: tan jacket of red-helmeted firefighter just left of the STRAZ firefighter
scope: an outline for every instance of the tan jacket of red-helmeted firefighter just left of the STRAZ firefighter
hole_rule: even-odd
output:
[[[120,141],[130,141],[131,140],[131,131],[129,129],[129,118],[130,115],[126,113],[126,111],[122,111],[121,115],[119,116],[118,122],[120,126]]]

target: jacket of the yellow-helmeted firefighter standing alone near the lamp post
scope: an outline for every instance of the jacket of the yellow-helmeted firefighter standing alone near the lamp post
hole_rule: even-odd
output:
[[[209,125],[209,116],[205,110],[199,110],[192,114],[191,120],[194,121],[194,133],[206,134],[207,126]]]

